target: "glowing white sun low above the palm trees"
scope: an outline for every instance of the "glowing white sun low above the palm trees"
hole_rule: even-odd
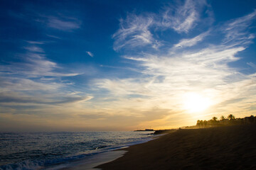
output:
[[[188,113],[201,113],[211,105],[210,98],[197,93],[188,93],[183,97],[183,109]]]

